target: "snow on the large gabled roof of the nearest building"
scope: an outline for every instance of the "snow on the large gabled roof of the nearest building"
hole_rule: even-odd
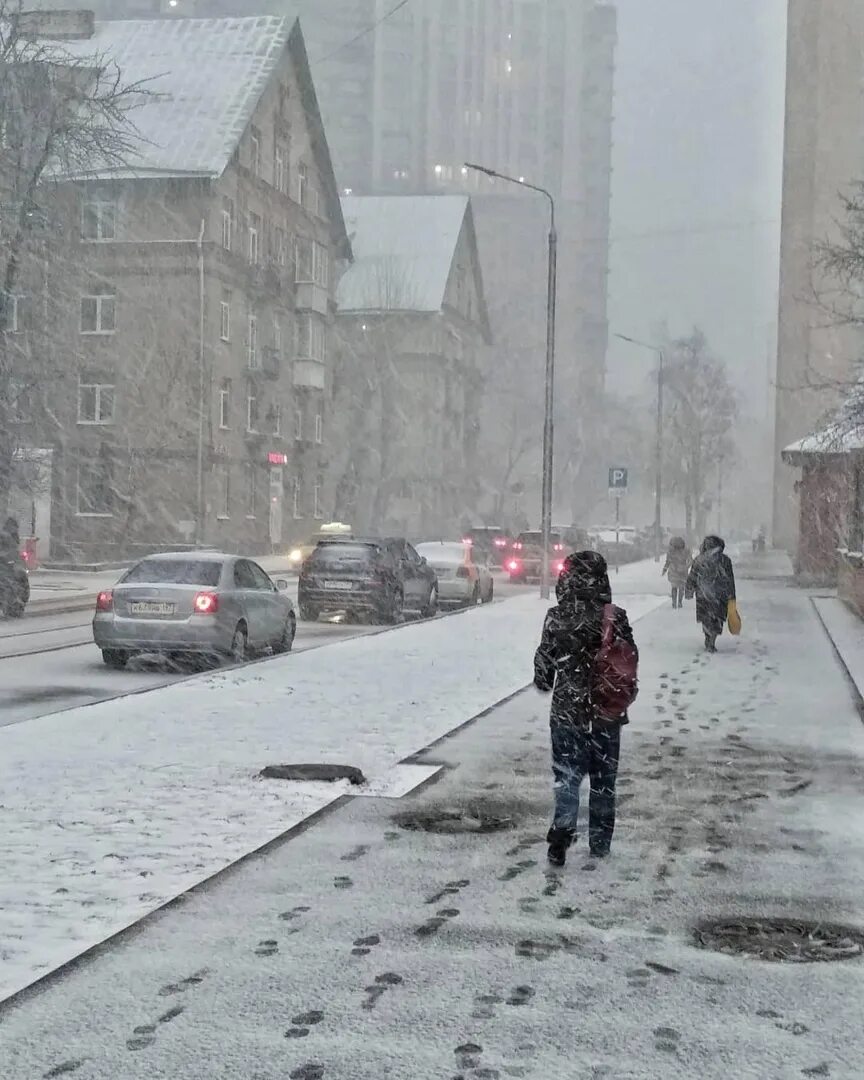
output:
[[[113,63],[124,85],[152,94],[131,113],[139,156],[124,173],[220,176],[288,42],[292,19],[99,22],[87,40],[56,49]]]

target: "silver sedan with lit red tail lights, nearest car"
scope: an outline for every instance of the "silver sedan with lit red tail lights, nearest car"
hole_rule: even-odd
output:
[[[297,617],[275,584],[249,558],[220,552],[168,552],[136,563],[99,593],[93,638],[109,667],[143,652],[225,657],[242,663],[271,649],[288,652]]]

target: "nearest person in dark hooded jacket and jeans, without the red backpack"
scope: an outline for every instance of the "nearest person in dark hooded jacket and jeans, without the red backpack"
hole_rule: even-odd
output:
[[[535,654],[534,681],[552,692],[550,727],[555,810],[549,829],[549,861],[563,866],[576,836],[579,788],[591,779],[589,847],[597,858],[609,854],[615,831],[615,788],[621,748],[618,720],[600,720],[592,705],[592,676],[603,640],[604,612],[612,594],[606,559],[595,551],[568,555],[555,586],[557,606],[550,608]],[[612,608],[612,633],[635,651],[626,612]]]

